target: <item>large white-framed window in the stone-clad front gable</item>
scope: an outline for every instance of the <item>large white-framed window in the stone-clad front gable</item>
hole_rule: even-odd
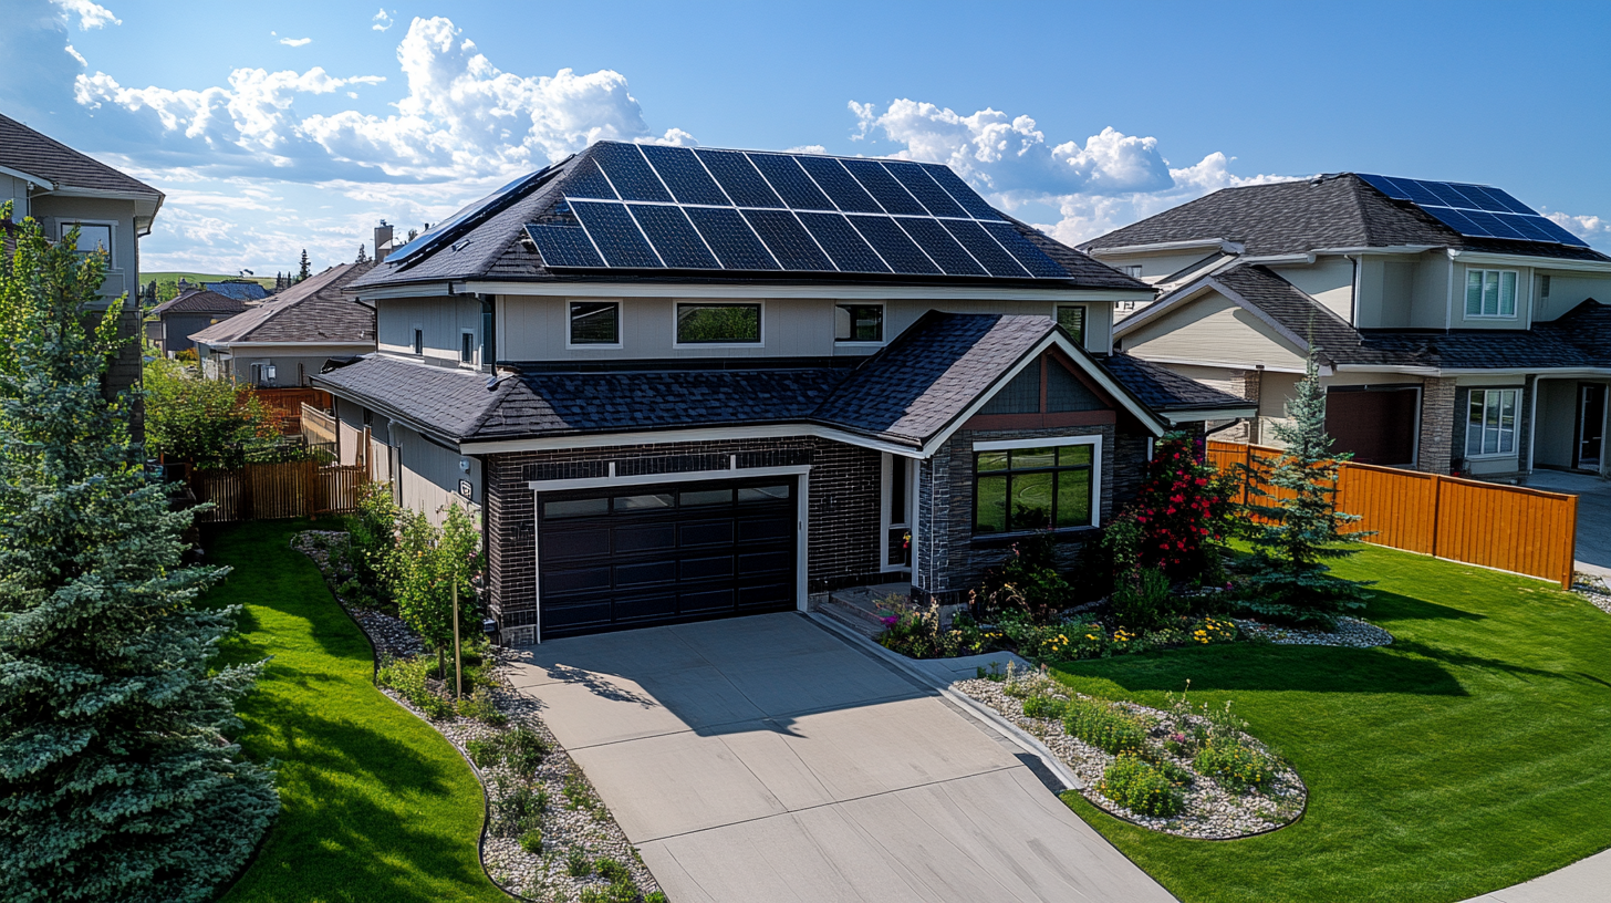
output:
[[[1089,527],[1094,443],[973,455],[973,532]]]

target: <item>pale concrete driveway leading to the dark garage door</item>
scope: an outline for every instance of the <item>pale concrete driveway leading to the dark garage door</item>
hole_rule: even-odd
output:
[[[802,614],[553,640],[519,668],[677,903],[1174,900],[1031,756]]]

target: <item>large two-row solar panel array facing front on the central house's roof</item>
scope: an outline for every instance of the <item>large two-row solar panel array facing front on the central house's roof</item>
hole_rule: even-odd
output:
[[[1066,279],[946,166],[601,142],[575,224],[530,224],[549,268]]]

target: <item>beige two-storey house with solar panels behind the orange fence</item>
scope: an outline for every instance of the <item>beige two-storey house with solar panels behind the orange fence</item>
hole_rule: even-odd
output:
[[[1226,189],[1081,248],[1163,290],[1118,347],[1258,402],[1226,437],[1273,442],[1313,345],[1356,461],[1605,466],[1611,256],[1501,190],[1353,173]]]

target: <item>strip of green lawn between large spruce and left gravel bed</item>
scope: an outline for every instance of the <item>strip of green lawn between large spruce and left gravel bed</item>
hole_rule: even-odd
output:
[[[477,861],[483,797],[458,751],[371,684],[371,647],[290,537],[266,521],[206,537],[235,571],[206,601],[245,606],[222,658],[272,656],[240,737],[279,761],[284,809],[226,903],[509,898]],[[329,524],[319,524],[329,527]]]

